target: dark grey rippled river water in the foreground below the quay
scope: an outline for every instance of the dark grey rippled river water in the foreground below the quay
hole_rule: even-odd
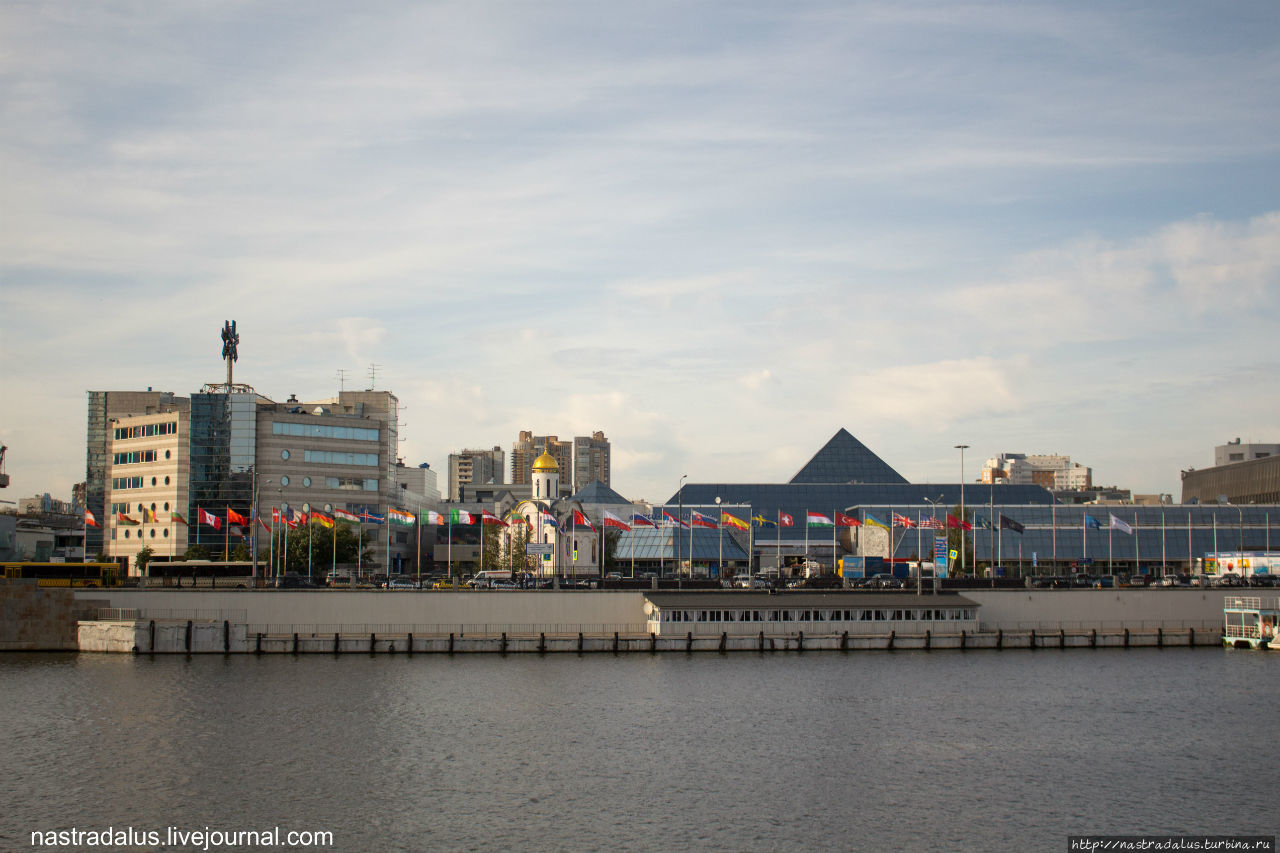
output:
[[[1266,652],[0,654],[0,733],[4,850],[106,826],[319,830],[339,850],[1280,829]]]

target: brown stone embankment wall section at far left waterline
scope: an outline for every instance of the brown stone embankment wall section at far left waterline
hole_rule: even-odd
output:
[[[0,652],[76,651],[76,621],[110,606],[101,592],[0,580]]]

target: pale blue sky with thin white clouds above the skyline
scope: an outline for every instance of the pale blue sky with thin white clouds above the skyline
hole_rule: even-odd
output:
[[[1180,496],[1280,442],[1280,6],[0,5],[4,497],[86,391],[393,391],[613,487],[1001,452]],[[956,444],[969,444],[965,470]]]

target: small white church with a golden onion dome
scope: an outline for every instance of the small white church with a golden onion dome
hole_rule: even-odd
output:
[[[520,530],[529,532],[530,546],[543,546],[543,553],[530,555],[539,578],[598,578],[600,534],[581,511],[581,505],[559,497],[559,465],[543,450],[534,460],[531,497],[517,503],[504,519],[503,549],[518,547]]]

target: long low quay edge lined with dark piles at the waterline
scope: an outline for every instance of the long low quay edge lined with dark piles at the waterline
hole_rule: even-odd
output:
[[[1222,629],[1161,628],[1088,630],[995,630],[960,633],[820,635],[794,631],[765,634],[657,635],[640,631],[439,631],[416,630],[282,630],[227,620],[119,620],[79,622],[81,651],[148,653],[250,654],[463,654],[463,653],[658,653],[658,652],[863,652],[863,651],[1032,651],[1097,648],[1221,647]],[[314,628],[314,626],[298,626]],[[389,628],[389,626],[388,626]],[[479,626],[468,626],[479,628]]]

